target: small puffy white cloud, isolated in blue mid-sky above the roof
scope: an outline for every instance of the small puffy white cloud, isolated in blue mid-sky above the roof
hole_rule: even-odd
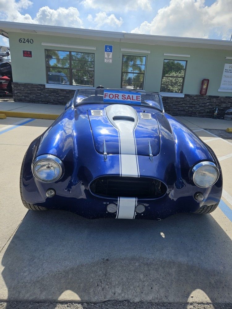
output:
[[[93,18],[91,14],[87,17],[89,22],[95,23],[97,27],[109,25],[110,27],[120,27],[123,23],[122,17],[116,18],[114,14],[107,15],[105,12],[95,14]]]

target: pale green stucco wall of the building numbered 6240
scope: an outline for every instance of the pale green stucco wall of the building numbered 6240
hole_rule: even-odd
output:
[[[31,38],[33,44],[19,43],[19,38]],[[201,80],[209,78],[207,95],[232,96],[232,92],[218,92],[225,63],[232,63],[232,51],[222,49],[186,48],[103,40],[79,39],[61,36],[47,36],[29,33],[9,33],[13,81],[18,83],[46,83],[45,49],[95,53],[94,86],[120,88],[122,70],[121,48],[150,50],[147,56],[144,90],[160,91],[164,59],[187,60],[184,94],[199,94]],[[96,50],[70,49],[41,45],[42,42],[94,46]],[[113,63],[104,63],[104,45],[113,45]],[[32,58],[24,58],[22,50],[32,50]],[[190,54],[191,57],[164,56],[164,53]],[[124,54],[130,54],[124,52]],[[135,53],[132,53],[135,54]],[[142,55],[141,53],[139,55]]]

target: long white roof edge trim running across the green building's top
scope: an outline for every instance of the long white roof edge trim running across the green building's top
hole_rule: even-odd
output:
[[[168,45],[183,47],[217,48],[231,50],[232,42],[226,40],[198,39],[176,36],[154,36],[124,32],[100,31],[82,28],[38,25],[32,23],[14,23],[0,21],[0,34],[8,36],[8,32],[37,33],[42,35],[79,37],[94,40],[110,40],[129,43]]]

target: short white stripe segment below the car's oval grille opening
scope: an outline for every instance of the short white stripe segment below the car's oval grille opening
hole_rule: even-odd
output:
[[[116,219],[134,219],[137,197],[119,197]]]

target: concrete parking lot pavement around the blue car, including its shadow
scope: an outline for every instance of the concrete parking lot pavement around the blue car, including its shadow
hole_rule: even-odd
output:
[[[1,120],[0,308],[232,308],[232,144],[179,119],[215,151],[223,197],[163,221],[27,211],[21,163],[53,121]]]

